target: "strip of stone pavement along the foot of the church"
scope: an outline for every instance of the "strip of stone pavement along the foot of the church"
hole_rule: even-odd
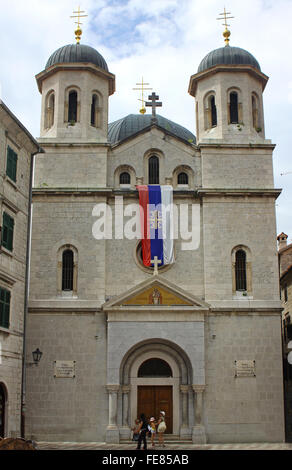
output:
[[[38,450],[135,450],[136,444],[106,444],[105,442],[36,442]],[[292,450],[292,443],[246,444],[166,444],[148,450]]]

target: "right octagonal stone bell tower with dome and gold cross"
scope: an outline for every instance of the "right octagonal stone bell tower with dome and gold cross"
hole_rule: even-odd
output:
[[[189,83],[196,100],[197,142],[263,143],[262,94],[268,77],[252,54],[230,46],[227,19],[233,17],[225,9],[221,15],[225,46],[204,57]]]

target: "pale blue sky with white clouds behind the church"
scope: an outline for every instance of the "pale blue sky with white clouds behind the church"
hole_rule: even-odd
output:
[[[81,1],[81,0],[80,0]],[[29,132],[39,136],[41,95],[35,75],[59,47],[75,43],[77,0],[0,0],[0,97]],[[252,53],[269,81],[264,91],[266,138],[274,150],[277,233],[292,242],[292,0],[82,0],[82,42],[97,49],[116,76],[109,121],[138,113],[136,83],[149,83],[159,114],[194,134],[191,75],[205,55],[224,45],[224,7],[234,19],[230,45]],[[150,112],[150,111],[148,111]]]

